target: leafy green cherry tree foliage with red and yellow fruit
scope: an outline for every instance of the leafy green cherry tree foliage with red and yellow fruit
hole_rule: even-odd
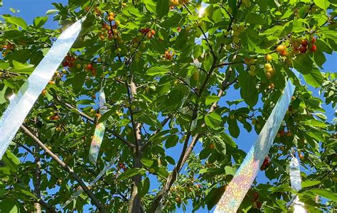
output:
[[[337,49],[337,1],[203,3],[208,6],[199,17],[200,1],[70,0],[46,12],[59,21],[57,30],[43,28],[48,16],[27,25],[2,15],[0,113],[63,29],[87,14],[25,126],[85,182],[118,156],[89,189],[108,212],[154,212],[161,199],[164,212],[188,203],[194,210],[212,209],[245,158],[235,138],[240,131],[260,132],[288,79],[296,91],[262,168],[269,181],[252,185],[240,211],[291,207],[291,148],[308,171],[301,173],[299,192],[306,208],[336,211],[336,121],[328,122],[321,107],[336,107],[336,73],[320,70],[325,54]],[[309,41],[305,53],[296,50],[302,40]],[[278,53],[279,45],[287,50]],[[322,96],[314,97],[308,85]],[[96,110],[102,87],[109,109],[104,116]],[[226,99],[230,87],[242,99]],[[220,99],[227,102],[218,104]],[[96,166],[88,153],[97,121],[107,121],[107,133]],[[31,212],[37,202],[59,207],[80,187],[31,136],[19,131],[13,142],[1,160],[2,212]],[[200,153],[193,152],[197,143]],[[176,146],[182,147],[180,156],[169,155]],[[87,203],[82,193],[64,210],[82,212]]]

